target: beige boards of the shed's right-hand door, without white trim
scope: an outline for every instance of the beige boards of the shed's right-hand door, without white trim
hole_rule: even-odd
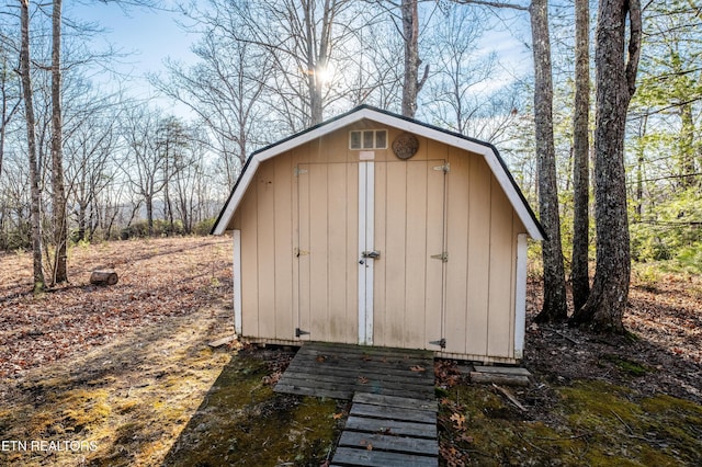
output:
[[[444,160],[375,163],[374,343],[431,349],[441,339]]]

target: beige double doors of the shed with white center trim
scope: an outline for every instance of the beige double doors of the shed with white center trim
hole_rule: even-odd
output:
[[[440,349],[445,161],[299,164],[299,339]]]

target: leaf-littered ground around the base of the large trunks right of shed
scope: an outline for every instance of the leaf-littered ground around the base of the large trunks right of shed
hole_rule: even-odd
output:
[[[702,277],[666,274],[652,285],[634,275],[624,316],[630,337],[530,323],[540,287],[530,284],[524,366],[547,381],[597,378],[702,403]]]

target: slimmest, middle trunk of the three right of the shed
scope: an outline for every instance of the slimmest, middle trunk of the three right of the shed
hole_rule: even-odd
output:
[[[590,9],[589,0],[575,2],[575,115],[573,118],[573,304],[578,309],[590,295]]]

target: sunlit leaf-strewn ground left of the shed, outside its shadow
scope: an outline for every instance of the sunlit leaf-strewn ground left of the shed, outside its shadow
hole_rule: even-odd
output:
[[[233,356],[207,346],[234,332],[229,244],[77,247],[71,284],[39,297],[31,257],[2,255],[0,440],[30,445],[5,444],[0,464],[160,465]],[[89,284],[102,266],[116,285]]]

